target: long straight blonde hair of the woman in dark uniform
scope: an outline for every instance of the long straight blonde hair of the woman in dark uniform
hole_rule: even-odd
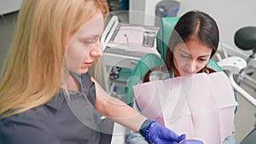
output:
[[[0,77],[0,116],[38,107],[61,89],[62,62],[71,34],[96,14],[105,0],[24,0],[15,37]]]

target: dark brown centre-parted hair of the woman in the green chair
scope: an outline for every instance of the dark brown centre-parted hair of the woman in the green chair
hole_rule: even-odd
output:
[[[177,43],[184,43],[196,37],[202,43],[212,48],[212,55],[218,49],[218,26],[209,14],[201,11],[189,11],[177,21],[168,43],[166,52],[166,66],[168,70],[173,67],[173,49]]]

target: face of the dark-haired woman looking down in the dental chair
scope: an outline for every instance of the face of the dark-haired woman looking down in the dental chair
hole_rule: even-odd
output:
[[[191,76],[207,65],[212,48],[198,39],[178,43],[173,49],[173,63],[176,76]]]

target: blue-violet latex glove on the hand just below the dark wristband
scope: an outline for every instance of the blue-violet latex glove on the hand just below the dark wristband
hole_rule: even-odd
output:
[[[180,141],[185,139],[186,135],[177,135],[172,130],[161,126],[157,122],[151,124],[148,130],[148,141],[152,141],[155,144],[179,144]],[[187,142],[187,141],[183,141]],[[197,143],[183,143],[183,144],[197,144]]]

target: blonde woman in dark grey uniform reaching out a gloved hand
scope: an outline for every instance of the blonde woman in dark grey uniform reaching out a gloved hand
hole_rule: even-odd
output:
[[[105,0],[23,1],[1,72],[0,143],[108,143],[102,115],[154,143],[201,143],[144,117],[90,78],[106,14]]]

